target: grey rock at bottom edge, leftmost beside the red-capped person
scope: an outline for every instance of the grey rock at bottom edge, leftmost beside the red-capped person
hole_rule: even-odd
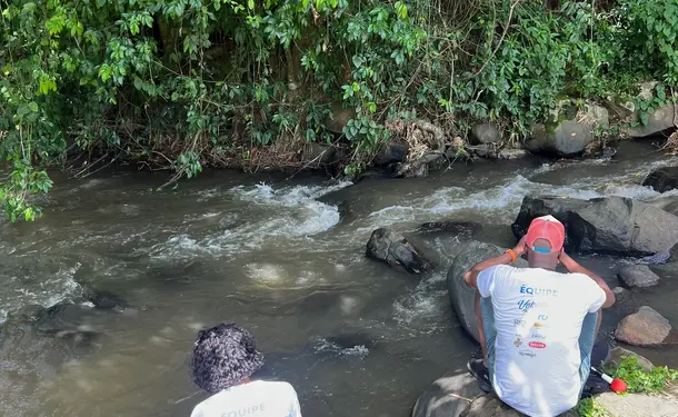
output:
[[[452,373],[436,379],[421,394],[412,409],[412,417],[458,417],[482,394],[470,374]]]

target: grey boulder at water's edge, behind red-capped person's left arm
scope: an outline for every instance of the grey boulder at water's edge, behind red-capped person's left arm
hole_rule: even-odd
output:
[[[476,290],[463,281],[466,271],[481,260],[501,255],[506,249],[480,241],[470,241],[459,254],[447,272],[447,289],[452,309],[461,327],[478,341],[478,321],[476,320]],[[524,259],[517,259],[517,267],[527,267]]]

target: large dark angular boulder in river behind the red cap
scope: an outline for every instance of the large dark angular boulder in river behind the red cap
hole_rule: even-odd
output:
[[[645,256],[678,242],[678,217],[625,197],[579,200],[554,196],[525,197],[511,226],[521,238],[534,218],[552,215],[565,225],[565,249]]]

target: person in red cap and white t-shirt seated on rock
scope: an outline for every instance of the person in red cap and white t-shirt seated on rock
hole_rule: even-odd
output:
[[[590,373],[600,308],[615,302],[605,281],[562,250],[565,227],[536,218],[515,249],[465,275],[478,289],[482,360],[469,370],[483,390],[530,417],[554,417],[577,405]],[[529,268],[510,266],[527,255]],[[558,264],[569,274],[556,272]],[[491,384],[491,386],[489,386]]]

